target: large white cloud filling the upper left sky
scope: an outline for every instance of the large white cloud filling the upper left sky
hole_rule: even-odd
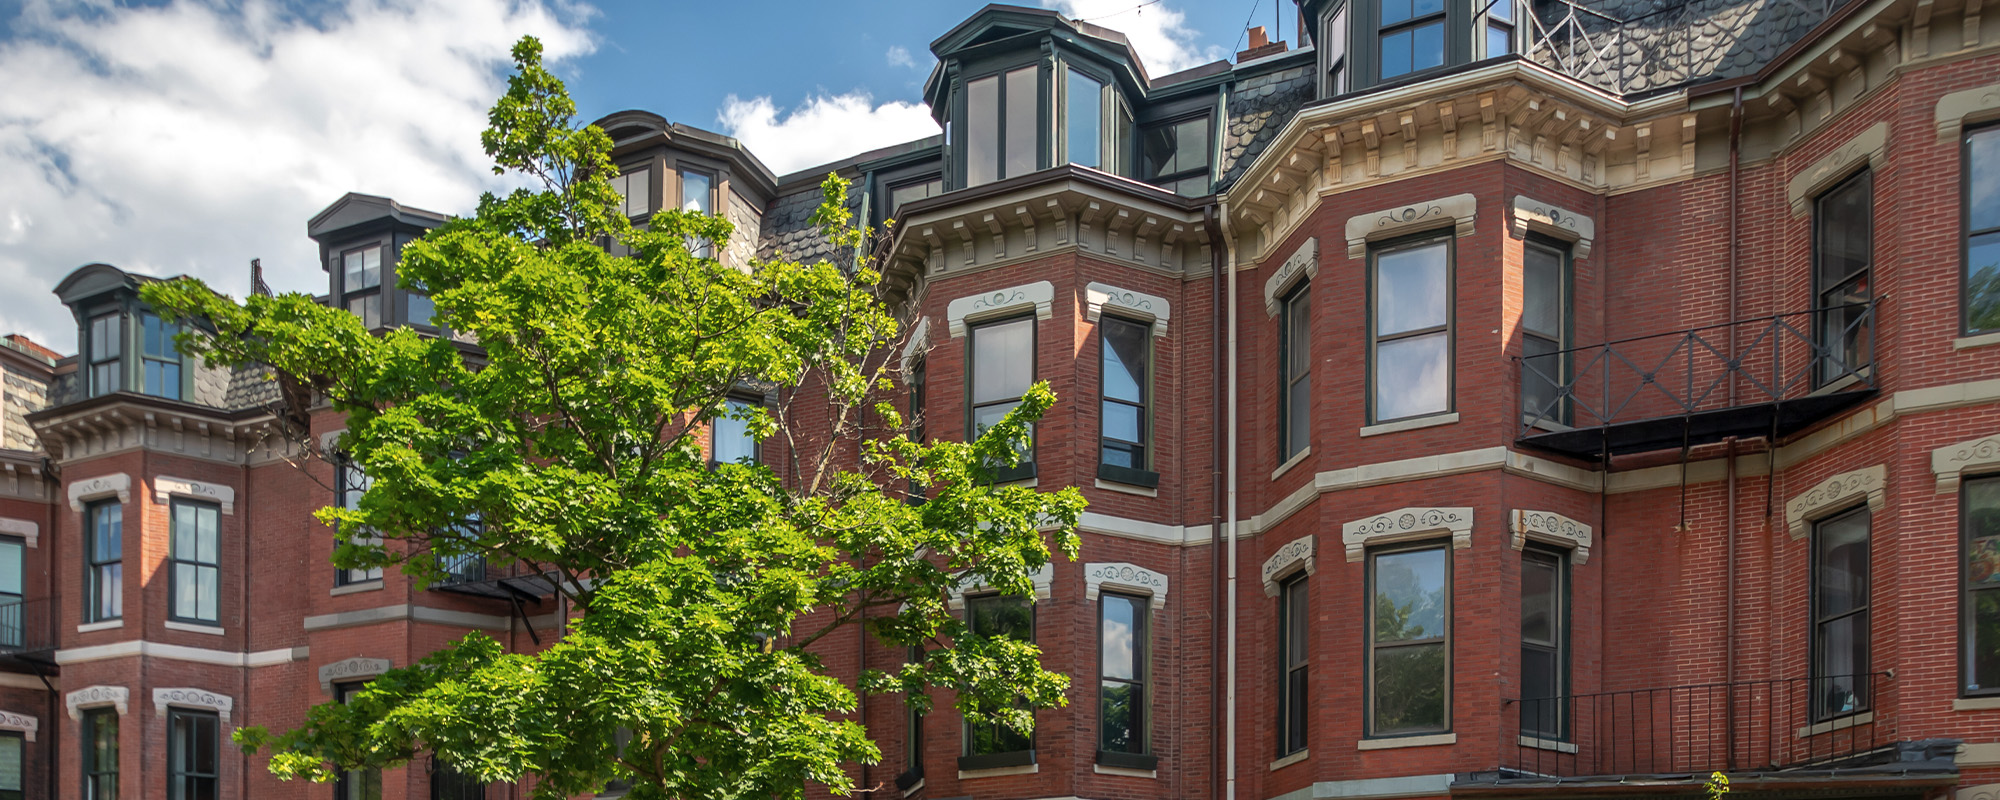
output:
[[[582,6],[276,0],[116,8],[30,0],[0,42],[0,332],[74,346],[48,288],[76,266],[194,274],[242,296],[326,292],[306,220],[344,192],[468,212],[508,48],[592,48]]]

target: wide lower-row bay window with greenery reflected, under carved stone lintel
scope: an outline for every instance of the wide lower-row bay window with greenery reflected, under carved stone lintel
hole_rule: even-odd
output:
[[[1444,544],[1368,554],[1368,736],[1452,728],[1450,582]]]

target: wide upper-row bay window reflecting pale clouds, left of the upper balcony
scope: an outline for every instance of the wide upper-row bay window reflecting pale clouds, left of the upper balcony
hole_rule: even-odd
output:
[[[1370,252],[1374,292],[1370,422],[1452,410],[1452,240]]]

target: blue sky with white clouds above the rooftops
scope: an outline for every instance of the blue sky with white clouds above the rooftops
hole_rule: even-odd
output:
[[[1124,30],[1148,72],[1296,38],[1292,0],[1014,0]],[[466,212],[508,46],[584,118],[646,108],[784,174],[936,132],[930,40],[984,0],[0,0],[0,334],[68,352],[48,290],[110,262],[324,292],[306,220],[344,192]]]

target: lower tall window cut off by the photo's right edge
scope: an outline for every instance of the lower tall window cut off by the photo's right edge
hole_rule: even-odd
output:
[[[1964,694],[2000,694],[2000,476],[1960,484],[1958,526],[1964,530]]]

